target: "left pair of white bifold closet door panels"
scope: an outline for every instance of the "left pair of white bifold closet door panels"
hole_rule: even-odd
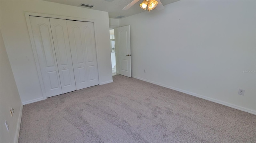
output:
[[[30,16],[46,97],[76,90],[66,20]]]

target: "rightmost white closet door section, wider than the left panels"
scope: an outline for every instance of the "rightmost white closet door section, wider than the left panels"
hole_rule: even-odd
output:
[[[92,22],[66,20],[76,89],[99,84],[94,26]]]

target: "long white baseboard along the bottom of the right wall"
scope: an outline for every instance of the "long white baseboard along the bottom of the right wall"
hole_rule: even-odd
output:
[[[207,97],[207,96],[202,96],[202,95],[199,95],[199,94],[196,94],[196,93],[193,93],[193,92],[189,92],[189,91],[186,91],[186,90],[182,90],[182,89],[179,89],[179,88],[175,88],[175,87],[172,87],[172,86],[168,86],[168,85],[164,85],[164,84],[160,84],[160,83],[157,83],[157,82],[154,82],[154,81],[150,81],[150,80],[146,80],[144,78],[140,78],[140,77],[137,77],[137,76],[132,76],[133,78],[137,78],[139,80],[143,80],[143,81],[146,81],[146,82],[150,82],[152,84],[156,84],[156,85],[159,85],[159,86],[163,86],[163,87],[166,87],[166,88],[170,88],[172,90],[176,90],[176,91],[179,91],[179,92],[182,92],[182,93],[186,93],[186,94],[189,94],[189,95],[192,95],[192,96],[196,96],[198,98],[202,98],[202,99],[205,99],[205,100],[209,100],[211,102],[215,102],[215,103],[218,103],[218,104],[222,104],[222,105],[225,105],[225,106],[228,106],[228,107],[231,107],[231,108],[235,108],[237,110],[241,110],[241,111],[244,111],[244,112],[248,112],[248,113],[251,113],[251,114],[254,114],[256,115],[256,111],[254,110],[251,110],[251,109],[248,109],[248,108],[244,108],[244,107],[241,107],[241,106],[237,106],[237,105],[234,105],[234,104],[231,104],[231,103],[228,103],[228,102],[224,102],[224,101],[221,101],[221,100],[217,100],[217,99],[214,99],[214,98],[210,98],[210,97]]]

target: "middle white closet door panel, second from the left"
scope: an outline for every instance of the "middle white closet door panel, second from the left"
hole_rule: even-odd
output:
[[[66,20],[50,18],[62,93],[76,90]]]

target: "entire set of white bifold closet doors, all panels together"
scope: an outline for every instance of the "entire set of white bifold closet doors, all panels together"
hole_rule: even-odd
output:
[[[91,22],[30,16],[46,97],[99,84]]]

